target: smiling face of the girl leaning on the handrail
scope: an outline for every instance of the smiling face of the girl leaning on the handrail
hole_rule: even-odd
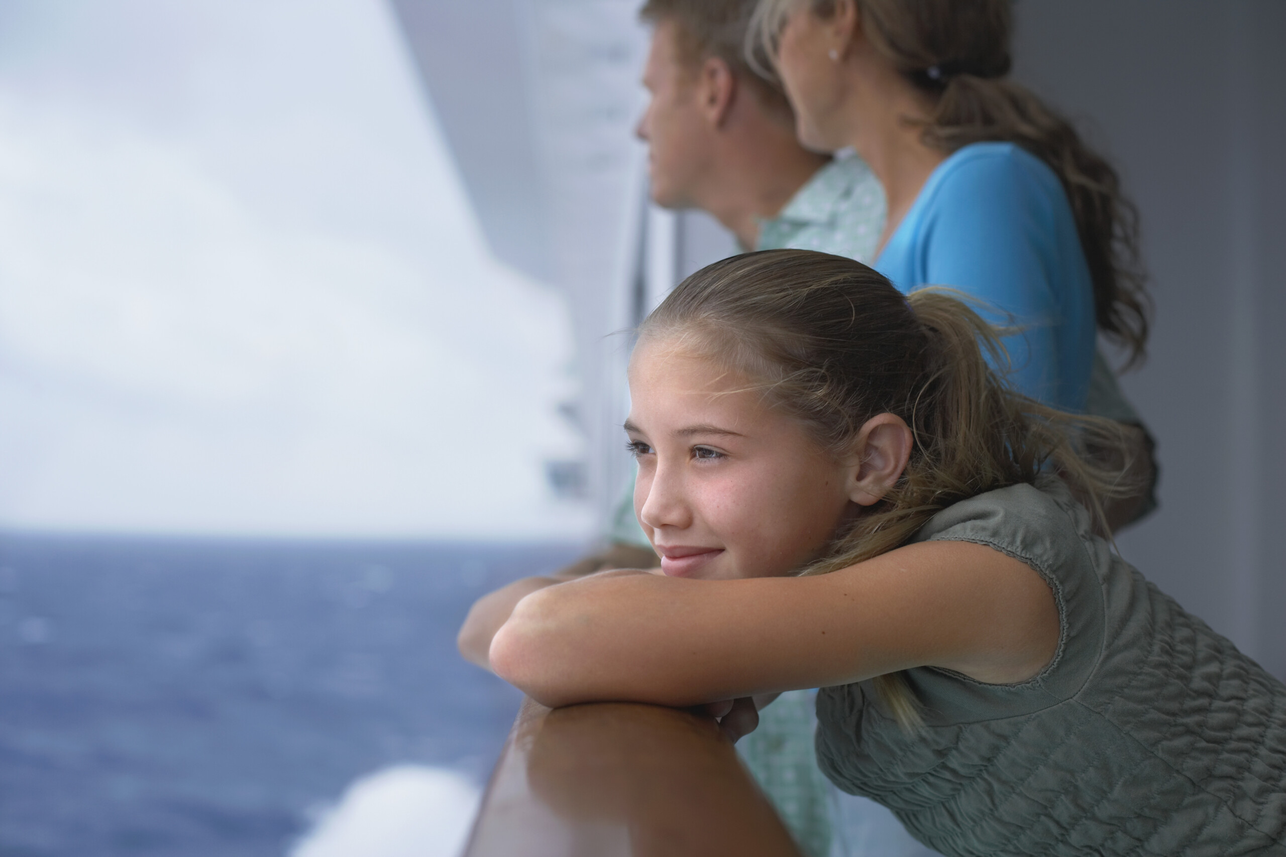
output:
[[[625,424],[639,463],[634,511],[666,574],[786,574],[858,509],[849,499],[856,466],[752,387],[666,340],[634,352]]]

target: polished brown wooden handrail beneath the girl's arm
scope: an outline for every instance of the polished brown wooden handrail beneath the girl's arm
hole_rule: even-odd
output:
[[[800,857],[710,717],[530,699],[466,857]]]

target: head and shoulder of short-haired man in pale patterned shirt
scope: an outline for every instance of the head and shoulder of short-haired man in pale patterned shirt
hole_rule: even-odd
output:
[[[874,251],[883,191],[856,158],[800,146],[786,96],[743,59],[752,3],[648,0],[653,24],[643,72],[651,103],[652,198],[714,215],[743,249],[797,247],[858,260]]]

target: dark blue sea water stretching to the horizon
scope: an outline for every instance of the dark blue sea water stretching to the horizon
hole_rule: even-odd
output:
[[[284,854],[356,777],[481,782],[469,604],[570,545],[0,536],[0,856]]]

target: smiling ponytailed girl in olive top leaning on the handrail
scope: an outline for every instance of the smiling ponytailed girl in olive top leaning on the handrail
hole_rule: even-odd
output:
[[[850,260],[698,271],[630,366],[662,573],[514,585],[462,648],[548,705],[822,687],[827,776],[945,854],[1286,854],[1286,687],[1094,536],[1106,424],[986,351]]]

